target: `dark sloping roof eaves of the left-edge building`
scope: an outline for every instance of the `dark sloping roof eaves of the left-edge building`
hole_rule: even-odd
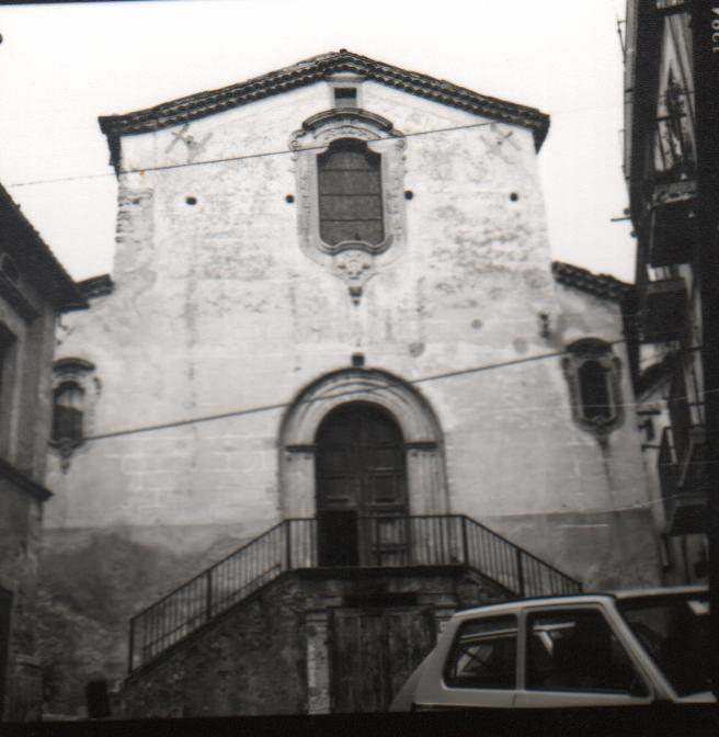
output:
[[[0,247],[31,284],[59,311],[88,306],[41,235],[0,185]]]

